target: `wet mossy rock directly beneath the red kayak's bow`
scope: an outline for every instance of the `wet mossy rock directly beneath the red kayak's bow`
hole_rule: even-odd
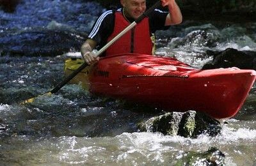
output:
[[[201,133],[216,136],[220,133],[220,122],[201,112],[168,112],[138,123],[140,132],[161,132],[164,135],[197,137]]]

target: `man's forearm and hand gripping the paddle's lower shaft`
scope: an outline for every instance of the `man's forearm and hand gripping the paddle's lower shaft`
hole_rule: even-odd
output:
[[[89,65],[99,61],[99,57],[97,57],[92,52],[92,50],[95,49],[96,45],[97,42],[95,40],[88,38],[81,46],[81,54],[84,58],[84,61]]]

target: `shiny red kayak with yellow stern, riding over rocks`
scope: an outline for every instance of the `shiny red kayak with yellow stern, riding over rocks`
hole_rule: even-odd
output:
[[[83,63],[68,59],[65,73]],[[254,70],[198,70],[170,57],[118,54],[86,67],[72,83],[91,93],[147,103],[168,111],[196,110],[217,119],[234,116],[255,81]]]

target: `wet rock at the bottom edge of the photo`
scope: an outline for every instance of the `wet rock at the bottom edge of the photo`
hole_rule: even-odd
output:
[[[225,155],[216,147],[210,147],[204,153],[190,151],[175,164],[179,165],[225,165]]]

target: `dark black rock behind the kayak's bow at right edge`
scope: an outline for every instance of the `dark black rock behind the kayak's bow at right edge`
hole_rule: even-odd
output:
[[[229,48],[222,52],[207,51],[207,54],[214,59],[211,63],[205,64],[202,69],[237,67],[256,70],[256,52],[253,51]]]

